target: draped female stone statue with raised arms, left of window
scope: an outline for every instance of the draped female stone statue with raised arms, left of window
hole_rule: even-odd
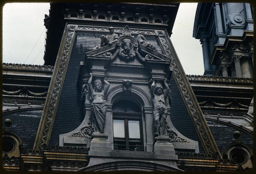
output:
[[[104,100],[106,93],[108,92],[110,84],[103,80],[103,84],[100,79],[95,79],[92,87],[92,73],[90,73],[90,79],[88,86],[90,89],[90,95],[92,98],[91,104],[91,119],[92,119],[92,131],[104,133],[105,119],[107,113],[107,102]]]

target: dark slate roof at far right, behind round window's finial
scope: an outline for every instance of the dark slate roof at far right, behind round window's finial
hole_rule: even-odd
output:
[[[229,125],[225,125],[215,121],[207,120],[207,123],[211,129],[212,135],[221,154],[223,154],[225,148],[230,143],[235,141],[235,138],[233,136],[233,133],[235,131],[239,131],[241,133],[241,142],[253,149],[253,137],[251,137],[249,134],[246,134],[245,132],[236,129],[235,127],[231,127]]]

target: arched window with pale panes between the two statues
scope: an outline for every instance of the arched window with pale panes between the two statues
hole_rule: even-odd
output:
[[[118,101],[112,108],[114,149],[144,151],[140,108],[129,100]]]

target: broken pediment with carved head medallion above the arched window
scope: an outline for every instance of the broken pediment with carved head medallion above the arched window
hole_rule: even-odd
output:
[[[112,33],[112,35],[113,34],[115,33]],[[135,39],[131,34],[130,28],[126,25],[122,34],[120,34],[116,40],[106,39],[110,41],[108,45],[103,38],[108,38],[109,35],[101,36],[101,40],[103,40],[101,45],[106,46],[97,46],[94,50],[87,52],[85,64],[87,64],[88,59],[90,59],[90,61],[92,61],[92,59],[100,61],[100,57],[109,57],[109,62],[115,64],[145,65],[149,69],[152,69],[151,64],[154,64],[154,66],[161,67],[161,69],[165,71],[170,67],[171,58],[159,53],[157,48],[145,39],[144,34],[145,32],[140,32]]]

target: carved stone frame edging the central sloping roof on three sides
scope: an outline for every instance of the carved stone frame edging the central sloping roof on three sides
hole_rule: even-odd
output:
[[[92,26],[81,26],[81,25],[68,25],[65,26],[65,31],[61,40],[60,50],[58,52],[57,61],[55,63],[54,72],[52,75],[52,80],[48,90],[47,98],[45,101],[44,111],[41,117],[40,125],[38,127],[38,132],[36,135],[36,141],[34,148],[41,148],[43,144],[48,144],[51,131],[54,123],[55,114],[57,111],[58,101],[60,98],[61,88],[64,82],[66,70],[68,67],[68,60],[70,57],[71,49],[74,43],[75,31],[92,31],[92,32],[104,32],[107,31],[107,27],[97,27],[98,29],[93,29]],[[105,30],[102,30],[102,29]],[[116,27],[116,30],[120,30],[120,27]],[[146,29],[147,31],[155,31],[154,28]],[[131,30],[132,33],[134,30]],[[106,33],[106,32],[104,32]],[[118,33],[118,32],[116,32]],[[146,32],[147,34],[147,32]],[[196,128],[196,132],[202,142],[205,153],[217,153],[221,158],[220,151],[214,138],[211,134],[210,128],[204,118],[203,112],[197,103],[195,94],[188,82],[186,74],[180,64],[179,58],[173,48],[172,42],[168,37],[166,29],[160,31],[157,30],[153,35],[157,36],[157,39],[162,48],[163,54],[171,57],[171,65],[173,68],[172,75],[178,86],[180,94],[188,110],[189,116]]]

